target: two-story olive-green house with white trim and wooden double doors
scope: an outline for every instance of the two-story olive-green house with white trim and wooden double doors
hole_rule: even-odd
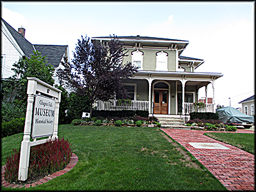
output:
[[[92,40],[108,44],[111,36],[93,37]],[[204,60],[181,56],[189,44],[186,40],[148,36],[118,36],[128,51],[124,62],[131,61],[139,67],[131,81],[124,81],[131,104],[118,108],[117,100],[99,101],[99,110],[148,110],[150,116],[181,116],[194,111],[198,90],[212,85],[212,104],[205,111],[215,112],[215,81],[220,73],[195,72]]]

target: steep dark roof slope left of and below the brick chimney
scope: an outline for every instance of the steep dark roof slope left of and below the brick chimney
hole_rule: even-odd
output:
[[[4,19],[2,19],[4,22],[4,25],[6,28],[10,31],[11,35],[19,45],[20,49],[24,52],[24,54],[30,58],[30,54],[33,54],[33,51],[35,51],[33,45],[26,40],[22,35],[20,35],[19,32],[17,32],[15,29],[12,28]]]

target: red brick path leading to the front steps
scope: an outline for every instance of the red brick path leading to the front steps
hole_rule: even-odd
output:
[[[254,155],[232,145],[204,136],[205,132],[184,129],[161,129],[185,147],[207,168],[229,191],[255,191]],[[236,132],[254,133],[237,129]],[[194,148],[188,143],[219,143],[230,149]]]

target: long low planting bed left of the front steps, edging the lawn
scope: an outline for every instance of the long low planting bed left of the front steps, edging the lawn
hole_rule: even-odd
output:
[[[75,119],[71,123],[72,125],[103,125],[103,126],[117,126],[117,127],[161,127],[159,120],[155,116],[145,118],[141,116],[131,116],[129,118],[84,118]]]

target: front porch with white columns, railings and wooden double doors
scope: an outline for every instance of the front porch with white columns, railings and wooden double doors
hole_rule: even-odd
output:
[[[223,76],[215,73],[139,71],[124,81],[131,100],[119,98],[97,101],[97,110],[148,111],[149,115],[188,116],[191,112],[215,112],[215,80]],[[212,85],[212,103],[207,103],[207,86]],[[205,108],[195,109],[198,90],[205,88]]]

